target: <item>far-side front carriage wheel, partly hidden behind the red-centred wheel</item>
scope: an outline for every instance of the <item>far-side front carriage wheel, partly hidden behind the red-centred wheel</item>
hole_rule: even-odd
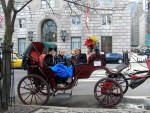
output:
[[[125,94],[128,90],[128,81],[125,80],[124,78],[115,78],[115,81],[119,83],[119,85],[121,85],[122,88],[122,92],[123,94]]]

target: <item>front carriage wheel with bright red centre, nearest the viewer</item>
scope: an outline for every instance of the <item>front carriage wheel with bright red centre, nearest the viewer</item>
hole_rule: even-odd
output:
[[[104,78],[95,84],[94,95],[105,107],[117,105],[123,97],[121,86],[112,79]]]

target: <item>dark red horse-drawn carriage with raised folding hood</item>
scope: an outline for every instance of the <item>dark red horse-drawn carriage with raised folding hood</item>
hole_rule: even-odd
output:
[[[44,65],[46,54],[43,54],[43,51],[46,47],[55,48],[56,45],[52,43],[48,45],[42,42],[32,42],[24,53],[23,67],[27,70],[27,76],[21,79],[17,89],[18,96],[24,104],[46,104],[49,96],[54,96],[60,90],[72,89],[78,79],[89,78],[95,70],[104,69],[108,75],[118,76],[127,67],[127,65],[122,65],[117,71],[112,71],[104,66],[102,58],[96,59],[90,64],[73,65],[71,81],[64,87],[59,87],[56,82],[58,77],[56,77],[49,67]],[[98,103],[103,106],[118,104],[124,92],[121,84],[109,78],[98,80],[94,88],[94,95]]]

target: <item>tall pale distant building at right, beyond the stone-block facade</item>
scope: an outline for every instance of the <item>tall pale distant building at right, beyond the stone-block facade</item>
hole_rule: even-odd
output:
[[[145,46],[148,33],[148,0],[137,2],[131,21],[131,45],[134,47]]]

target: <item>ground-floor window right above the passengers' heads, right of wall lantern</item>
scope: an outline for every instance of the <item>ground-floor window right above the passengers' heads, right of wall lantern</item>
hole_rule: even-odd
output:
[[[81,37],[72,37],[71,38],[71,49],[81,49]]]

